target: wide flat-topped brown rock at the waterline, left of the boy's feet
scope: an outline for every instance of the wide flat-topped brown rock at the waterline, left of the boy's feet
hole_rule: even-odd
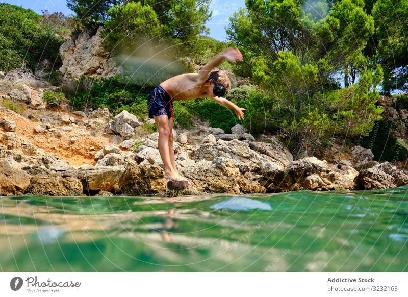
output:
[[[124,172],[123,166],[100,167],[86,165],[78,169],[63,172],[62,177],[73,177],[81,180],[84,191],[111,191],[118,184]]]

